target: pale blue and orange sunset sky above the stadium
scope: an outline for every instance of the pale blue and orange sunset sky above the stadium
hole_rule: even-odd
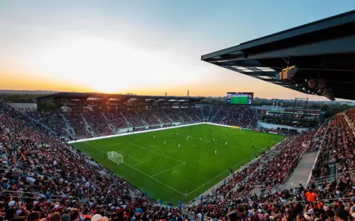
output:
[[[0,89],[306,96],[201,55],[354,8],[354,0],[0,0]]]

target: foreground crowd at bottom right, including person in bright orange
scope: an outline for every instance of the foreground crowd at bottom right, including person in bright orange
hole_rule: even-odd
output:
[[[347,221],[355,220],[354,188],[350,179],[299,186],[260,196],[204,202],[185,208],[193,217],[213,220],[249,221]],[[341,199],[339,199],[339,198]]]

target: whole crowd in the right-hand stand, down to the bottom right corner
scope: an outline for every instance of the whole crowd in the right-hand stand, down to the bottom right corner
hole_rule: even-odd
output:
[[[336,115],[329,126],[323,124],[317,131],[288,137],[185,212],[205,220],[355,220],[353,141],[352,128],[344,115]],[[302,152],[319,146],[307,187],[270,188],[282,182],[283,172],[292,172]],[[326,168],[332,161],[339,164],[338,175],[330,177]],[[261,191],[250,191],[256,184]]]

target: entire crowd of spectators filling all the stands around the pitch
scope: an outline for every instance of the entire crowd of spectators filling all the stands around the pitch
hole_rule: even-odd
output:
[[[139,123],[141,119],[148,124],[162,119],[161,116],[194,121],[194,117],[181,117],[194,115],[202,119],[201,112],[179,111],[154,111],[153,120],[147,118],[150,116],[141,117],[140,113],[125,112],[124,116],[135,125],[143,124]],[[238,117],[231,112],[238,112],[245,119],[253,119],[255,115],[255,110],[238,106],[211,109],[216,121],[227,119],[237,123]],[[64,115],[78,134],[87,134],[80,114]],[[88,124],[94,125],[94,131],[104,125],[108,128],[100,115],[102,117],[84,114]],[[114,114],[105,115],[108,121],[115,119]],[[58,115],[31,113],[28,117],[41,124],[54,124],[50,128],[55,131],[65,126]],[[262,150],[258,158],[251,156],[250,159],[255,158],[253,161],[231,172],[222,185],[189,207],[157,205],[146,194],[113,176],[65,141],[49,135],[49,131],[28,117],[0,103],[0,220],[182,221],[187,214],[196,220],[211,221],[343,221],[355,218],[354,110],[334,116],[329,124],[323,124],[318,130],[289,136],[271,150]],[[116,125],[119,128],[124,124],[122,117]],[[276,190],[275,187],[279,187],[297,167],[304,152],[317,150],[319,146],[321,150],[310,184]],[[339,176],[334,180],[329,179],[330,170],[326,167],[330,163],[337,165]]]

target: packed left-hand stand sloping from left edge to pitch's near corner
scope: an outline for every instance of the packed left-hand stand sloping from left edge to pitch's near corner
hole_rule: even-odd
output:
[[[0,120],[1,220],[133,220],[136,209],[154,219],[179,216],[161,207],[150,213],[150,198],[2,103]]]

